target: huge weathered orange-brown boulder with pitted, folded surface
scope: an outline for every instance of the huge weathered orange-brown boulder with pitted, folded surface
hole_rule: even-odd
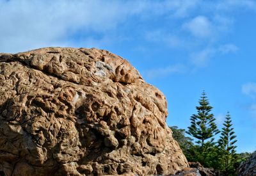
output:
[[[173,174],[166,99],[99,49],[0,54],[0,175]]]

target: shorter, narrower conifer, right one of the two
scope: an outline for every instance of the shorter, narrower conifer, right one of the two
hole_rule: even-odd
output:
[[[237,160],[236,154],[236,135],[234,128],[232,128],[231,117],[229,113],[225,118],[224,127],[221,130],[220,140],[218,141],[220,147],[220,160],[221,160],[221,170],[225,175],[233,175],[235,172],[235,164]]]

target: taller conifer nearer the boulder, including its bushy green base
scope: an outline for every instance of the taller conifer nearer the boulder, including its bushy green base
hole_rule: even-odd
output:
[[[200,106],[196,106],[197,114],[190,118],[191,125],[187,133],[197,139],[198,147],[195,147],[195,161],[199,161],[206,167],[215,167],[218,163],[218,154],[214,146],[214,136],[220,131],[215,124],[214,115],[211,113],[212,106],[209,105],[205,92],[199,100]]]

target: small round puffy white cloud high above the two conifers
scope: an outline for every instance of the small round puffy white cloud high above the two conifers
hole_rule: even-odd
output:
[[[192,35],[196,37],[210,37],[213,35],[213,26],[209,19],[205,16],[197,16],[183,24],[183,28],[188,30]]]

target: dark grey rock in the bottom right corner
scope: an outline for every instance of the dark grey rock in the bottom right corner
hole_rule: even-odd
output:
[[[256,175],[256,153],[252,154],[246,161],[237,168],[237,175],[254,176]]]

